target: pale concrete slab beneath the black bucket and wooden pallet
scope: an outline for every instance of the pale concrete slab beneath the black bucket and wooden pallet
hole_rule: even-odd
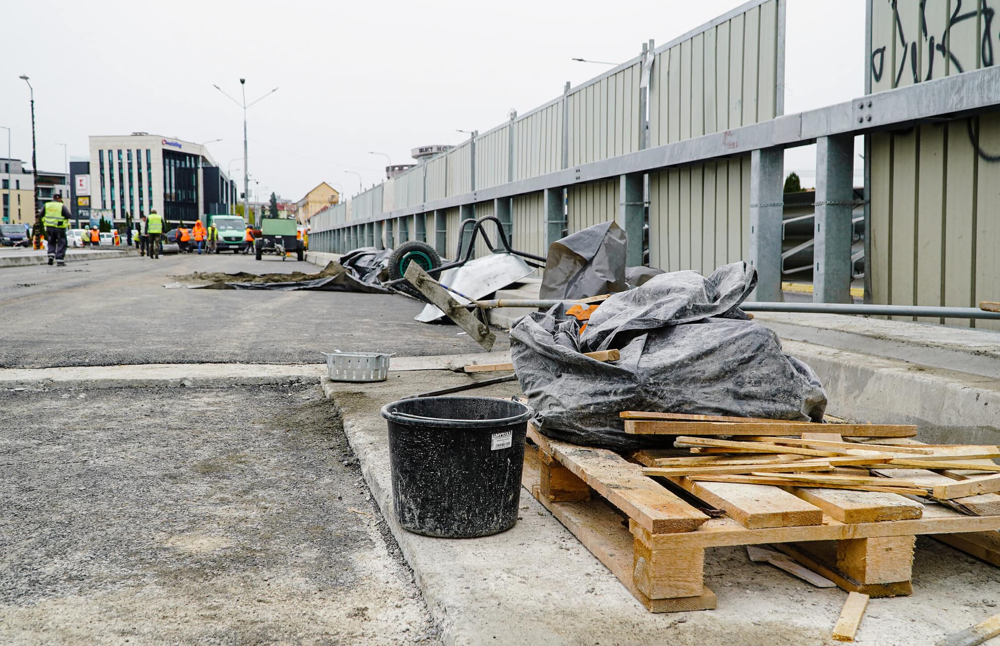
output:
[[[531,494],[521,490],[514,528],[484,538],[450,540],[403,530],[392,511],[388,438],[380,407],[417,390],[473,378],[445,371],[383,383],[323,381],[386,521],[413,568],[449,644],[651,644],[692,646],[828,644],[846,593],[819,589],[767,565],[740,547],[708,550],[705,583],[718,609],[654,614]],[[474,393],[509,396],[516,383]],[[835,411],[834,411],[835,412]],[[932,644],[995,612],[996,570],[927,538],[918,539],[914,594],[873,599],[857,643]],[[928,604],[935,612],[928,613]]]

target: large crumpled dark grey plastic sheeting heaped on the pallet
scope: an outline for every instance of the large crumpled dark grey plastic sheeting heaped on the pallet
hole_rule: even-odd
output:
[[[625,434],[622,410],[822,420],[815,372],[739,309],[756,284],[745,263],[655,276],[605,301],[582,335],[561,308],[521,319],[511,355],[542,432],[620,450],[664,443]],[[582,353],[609,348],[618,361]]]

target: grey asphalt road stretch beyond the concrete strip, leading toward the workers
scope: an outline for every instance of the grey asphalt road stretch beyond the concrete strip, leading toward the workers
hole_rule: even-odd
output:
[[[397,295],[168,290],[192,272],[316,272],[252,256],[126,258],[0,269],[0,367],[315,363],[320,351],[453,354],[483,349],[455,325],[413,321]],[[495,349],[508,346],[497,332]]]

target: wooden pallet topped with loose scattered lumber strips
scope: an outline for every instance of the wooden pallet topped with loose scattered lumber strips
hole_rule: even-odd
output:
[[[704,552],[726,545],[770,545],[751,554],[872,597],[912,593],[917,535],[1000,566],[998,446],[924,444],[907,424],[621,416],[673,446],[623,455],[529,425],[523,483],[651,611],[714,608]]]

